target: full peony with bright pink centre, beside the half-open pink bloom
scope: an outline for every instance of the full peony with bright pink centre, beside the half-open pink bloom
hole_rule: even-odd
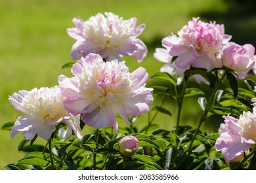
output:
[[[185,71],[193,66],[211,71],[217,65],[215,54],[230,39],[230,35],[224,34],[224,25],[205,23],[199,18],[193,18],[182,27],[178,36],[165,37],[162,45],[169,50],[170,56],[177,56],[175,66],[179,69]]]

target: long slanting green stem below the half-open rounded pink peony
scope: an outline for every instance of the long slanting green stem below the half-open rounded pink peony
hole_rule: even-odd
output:
[[[226,78],[226,71],[224,71],[223,76],[221,77],[221,79],[219,80],[219,82],[215,85],[215,88],[213,89],[213,92],[211,93],[211,96],[209,97],[209,100],[207,101],[207,105],[205,107],[205,109],[203,110],[203,114],[200,117],[200,120],[198,121],[198,127],[196,128],[196,131],[192,137],[192,140],[188,146],[188,154],[190,154],[190,150],[192,148],[192,144],[194,142],[194,140],[196,139],[196,135],[198,135],[198,132],[200,130],[201,125],[203,124],[203,122],[206,120],[207,118],[207,114],[209,112],[209,110],[211,110],[211,107],[213,105],[213,99],[215,97],[215,93],[217,92],[217,90],[219,89],[219,87],[221,86],[221,83],[223,82],[224,78]]]

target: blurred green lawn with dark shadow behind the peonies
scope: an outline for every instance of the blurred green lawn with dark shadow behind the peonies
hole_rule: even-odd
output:
[[[0,126],[16,120],[20,115],[8,101],[9,95],[18,90],[32,90],[58,84],[58,76],[70,74],[62,65],[72,61],[70,49],[75,40],[66,29],[74,27],[72,18],[87,20],[98,12],[114,12],[125,19],[137,17],[138,24],[146,24],[140,39],[148,46],[148,56],[137,63],[127,61],[130,71],[145,67],[150,75],[161,65],[153,58],[155,48],[161,47],[161,39],[177,33],[192,17],[200,16],[205,22],[224,24],[226,34],[238,44],[256,46],[255,1],[242,0],[1,0],[0,1]],[[148,80],[148,86],[154,80]],[[207,87],[207,86],[204,86]],[[176,103],[167,101],[172,117],[161,115],[160,126],[172,127],[176,119]],[[194,101],[184,101],[183,124],[197,122],[200,111]],[[142,118],[143,119],[143,118]],[[217,123],[221,120],[217,119]],[[206,124],[211,125],[211,124]],[[216,125],[210,128],[217,132]],[[207,129],[207,127],[205,128]],[[22,153],[17,151],[22,135],[11,139],[11,131],[0,130],[0,169],[7,163],[15,163]]]

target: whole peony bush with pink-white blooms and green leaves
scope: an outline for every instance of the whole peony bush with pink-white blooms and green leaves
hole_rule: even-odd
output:
[[[75,39],[75,61],[63,67],[71,67],[74,76],[60,75],[58,86],[9,97],[22,116],[2,129],[11,130],[11,137],[22,132],[17,145],[25,154],[7,169],[256,169],[253,45],[231,42],[223,24],[192,18],[177,35],[162,39],[163,48],[156,48],[152,61],[163,67],[148,78],[146,69],[130,71],[122,59],[132,56],[140,62],[147,55],[137,38],[145,25],[137,26],[137,18],[105,12],[73,23],[67,32]],[[154,86],[146,86],[148,79]],[[192,88],[194,81],[207,90]],[[202,108],[192,119],[196,126],[181,125],[188,97]],[[176,111],[164,107],[167,99],[177,102]],[[160,112],[177,112],[175,129],[157,125]],[[141,114],[148,120],[139,130]],[[212,116],[223,116],[219,131],[202,131]],[[119,129],[119,124],[126,127]],[[87,126],[93,133],[83,131]]]

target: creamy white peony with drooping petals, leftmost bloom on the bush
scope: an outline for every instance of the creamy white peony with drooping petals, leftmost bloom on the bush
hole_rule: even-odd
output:
[[[35,135],[48,140],[61,122],[66,124],[68,139],[74,131],[78,139],[82,139],[79,131],[79,117],[72,116],[63,107],[60,87],[34,88],[31,91],[20,90],[9,97],[11,105],[24,114],[17,118],[12,127],[11,137],[23,131],[24,137],[32,140]]]

